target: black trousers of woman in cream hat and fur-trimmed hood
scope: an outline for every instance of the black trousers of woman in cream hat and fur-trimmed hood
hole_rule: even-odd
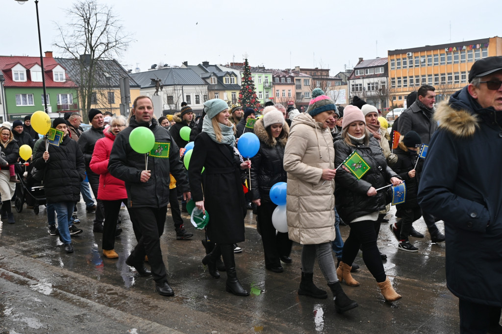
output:
[[[262,202],[258,207],[258,219],[260,232],[262,233],[263,252],[265,266],[267,268],[279,267],[280,256],[289,256],[293,241],[289,240],[288,233],[277,232],[272,224],[272,213],[277,205],[272,202]]]

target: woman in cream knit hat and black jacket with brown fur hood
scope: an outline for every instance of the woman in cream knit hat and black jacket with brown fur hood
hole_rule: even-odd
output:
[[[274,108],[274,107],[266,107]],[[277,232],[272,224],[272,213],[277,205],[270,199],[270,189],[278,182],[286,182],[284,171],[284,147],[288,141],[289,126],[284,115],[277,109],[267,110],[255,123],[255,134],[260,139],[260,150],[251,159],[251,194],[258,206],[258,222],[262,235],[265,268],[283,272],[281,260],[291,263],[292,241],[288,233]]]

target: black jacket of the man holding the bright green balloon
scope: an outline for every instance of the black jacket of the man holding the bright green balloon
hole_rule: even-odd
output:
[[[137,153],[129,143],[129,135],[138,126],[148,127],[155,135],[156,143],[169,143],[169,157],[148,156],[148,170],[152,176],[148,182],[141,182],[141,172],[145,170],[145,154]],[[80,140],[82,137],[80,137]],[[80,142],[79,140],[79,142]],[[154,146],[154,149],[157,147]],[[180,161],[179,149],[169,131],[152,119],[138,123],[131,117],[129,126],[120,131],[113,142],[108,162],[108,171],[115,178],[126,183],[130,208],[162,208],[169,203],[169,173],[176,179],[181,192],[188,191],[187,174]]]

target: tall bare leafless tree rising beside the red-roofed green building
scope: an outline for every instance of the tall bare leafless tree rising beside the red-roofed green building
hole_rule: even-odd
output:
[[[99,68],[100,60],[119,58],[126,51],[131,36],[125,33],[124,27],[113,14],[110,7],[98,5],[96,0],[81,0],[66,10],[69,23],[57,25],[60,41],[55,46],[62,49],[64,54],[80,60],[78,93],[83,113],[87,117],[87,110],[93,100],[93,93],[97,87],[102,72]],[[97,94],[94,94],[96,97]]]

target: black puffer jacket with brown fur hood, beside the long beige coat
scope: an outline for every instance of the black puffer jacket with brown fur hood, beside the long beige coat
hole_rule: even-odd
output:
[[[270,202],[270,188],[288,179],[283,160],[289,126],[284,123],[283,132],[276,140],[265,130],[262,118],[255,123],[255,134],[260,139],[260,150],[251,158],[251,193],[253,200]]]

